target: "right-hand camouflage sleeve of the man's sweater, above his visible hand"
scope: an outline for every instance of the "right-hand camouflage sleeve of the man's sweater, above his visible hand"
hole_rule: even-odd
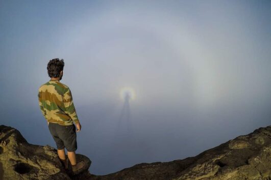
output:
[[[73,105],[72,96],[69,88],[67,88],[67,90],[64,92],[63,102],[65,106],[64,112],[70,116],[74,123],[79,123],[79,119],[76,113],[75,106]]]

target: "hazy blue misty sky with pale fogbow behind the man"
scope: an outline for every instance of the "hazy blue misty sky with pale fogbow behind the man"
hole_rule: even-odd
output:
[[[0,124],[55,146],[37,91],[58,57],[83,127],[78,153],[91,159],[93,174],[195,156],[268,126],[270,8],[270,1],[0,1]],[[125,88],[135,94],[128,134],[116,130]]]

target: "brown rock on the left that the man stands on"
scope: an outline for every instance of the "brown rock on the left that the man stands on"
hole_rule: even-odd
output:
[[[1,125],[0,142],[0,179],[80,179],[89,174],[91,161],[86,156],[77,154],[86,166],[74,176],[70,169],[65,171],[55,148],[29,144],[14,128]]]

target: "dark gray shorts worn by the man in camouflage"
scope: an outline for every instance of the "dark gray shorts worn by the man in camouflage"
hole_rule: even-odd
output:
[[[69,152],[76,151],[77,141],[75,125],[62,126],[57,123],[49,123],[48,127],[57,144],[57,149],[64,149],[64,147],[66,147]]]

